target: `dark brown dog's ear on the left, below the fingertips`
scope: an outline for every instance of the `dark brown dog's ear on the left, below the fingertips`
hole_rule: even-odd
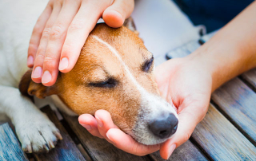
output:
[[[34,81],[31,80],[31,73],[32,69],[29,69],[19,82],[18,88],[22,95],[45,98],[46,96],[57,94],[55,85],[46,87],[41,83],[34,83]]]

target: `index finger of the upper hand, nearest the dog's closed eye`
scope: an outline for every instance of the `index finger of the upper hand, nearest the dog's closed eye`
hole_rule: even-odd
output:
[[[85,44],[90,31],[94,29],[98,18],[102,16],[103,10],[105,10],[107,6],[110,6],[110,0],[101,1],[100,6],[98,2],[99,1],[90,1],[90,4],[87,4],[86,1],[83,1],[78,14],[71,22],[66,34],[66,40],[62,48],[61,61],[58,67],[62,73],[70,72],[70,70],[74,68],[82,46]]]

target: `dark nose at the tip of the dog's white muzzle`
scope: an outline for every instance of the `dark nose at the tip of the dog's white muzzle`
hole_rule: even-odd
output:
[[[174,114],[164,115],[157,120],[150,122],[150,132],[161,139],[166,139],[173,135],[178,127],[178,119]]]

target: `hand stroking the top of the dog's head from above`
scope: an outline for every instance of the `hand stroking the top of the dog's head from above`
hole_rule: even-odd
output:
[[[134,0],[50,0],[30,38],[27,66],[34,66],[32,80],[53,85],[58,70],[68,73],[74,68],[99,18],[120,27],[133,10]]]

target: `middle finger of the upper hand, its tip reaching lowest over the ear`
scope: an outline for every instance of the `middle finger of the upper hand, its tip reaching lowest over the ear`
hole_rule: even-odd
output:
[[[51,28],[42,69],[42,84],[53,85],[58,77],[58,63],[66,32],[80,6],[79,1],[65,1]],[[46,73],[46,74],[45,74]]]

